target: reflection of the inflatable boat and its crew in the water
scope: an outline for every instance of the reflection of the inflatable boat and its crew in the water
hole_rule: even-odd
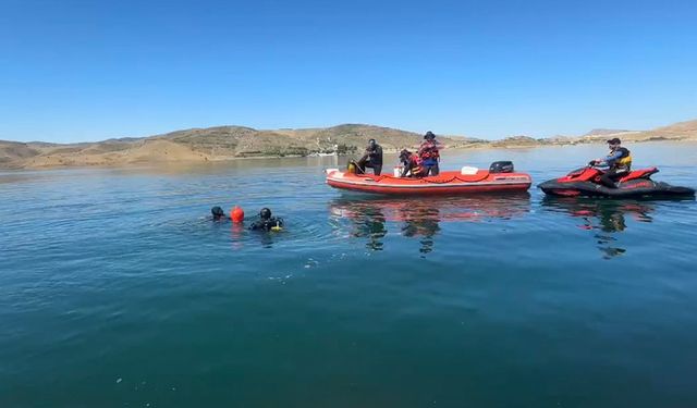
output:
[[[478,197],[381,198],[343,196],[329,203],[334,231],[367,238],[366,247],[382,250],[389,228],[407,238],[417,238],[419,252],[435,249],[441,222],[477,222],[491,218],[510,219],[530,210],[529,194]],[[398,224],[390,226],[390,224]]]

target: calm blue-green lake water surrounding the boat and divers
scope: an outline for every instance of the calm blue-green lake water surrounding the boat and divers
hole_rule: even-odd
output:
[[[697,145],[628,147],[697,186]],[[0,406],[697,406],[694,200],[370,198],[334,160],[1,172]]]

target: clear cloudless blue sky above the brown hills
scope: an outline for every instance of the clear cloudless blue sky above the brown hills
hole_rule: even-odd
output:
[[[697,2],[0,0],[0,139],[697,119]]]

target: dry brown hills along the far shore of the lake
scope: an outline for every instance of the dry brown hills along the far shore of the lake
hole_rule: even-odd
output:
[[[531,148],[579,143],[601,143],[610,136],[623,141],[697,140],[697,121],[681,122],[652,131],[594,129],[584,136],[533,138],[512,136],[484,140],[464,136],[438,136],[447,148]],[[176,161],[212,161],[250,157],[359,154],[375,138],[386,152],[416,148],[420,134],[365,124],[327,128],[259,131],[244,126],[217,126],[176,131],[137,138],[96,143],[50,144],[0,140],[0,168],[46,168],[63,165],[129,165]]]

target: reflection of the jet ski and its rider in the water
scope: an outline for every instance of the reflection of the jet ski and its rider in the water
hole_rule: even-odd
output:
[[[652,222],[650,213],[656,206],[648,201],[598,200],[583,198],[545,197],[542,206],[578,218],[583,230],[591,231],[604,259],[626,252],[619,242],[619,233],[627,228],[627,217],[637,222]]]

